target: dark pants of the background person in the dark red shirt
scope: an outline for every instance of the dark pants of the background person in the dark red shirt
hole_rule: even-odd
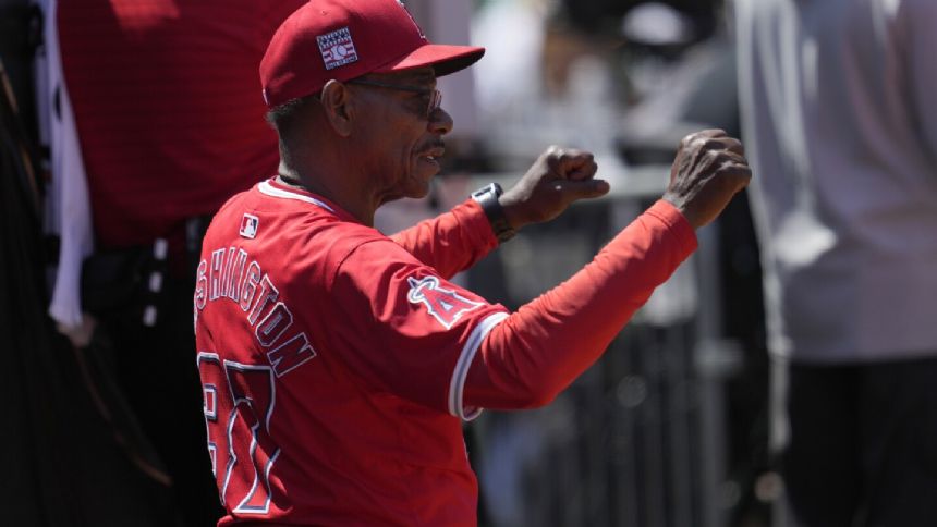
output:
[[[83,267],[83,302],[99,320],[84,351],[93,384],[129,457],[173,503],[186,527],[221,516],[211,475],[195,365],[192,295],[186,262],[157,260],[148,247],[100,253]],[[192,266],[187,266],[192,267]],[[149,277],[160,272],[153,291]],[[155,320],[144,312],[155,308]],[[155,322],[155,323],[154,323]],[[165,525],[173,524],[166,520]]]

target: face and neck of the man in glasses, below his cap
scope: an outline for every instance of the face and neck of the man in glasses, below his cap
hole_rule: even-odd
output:
[[[361,78],[436,87],[429,66]],[[338,81],[326,84],[320,99],[304,108],[296,128],[283,137],[289,155],[282,156],[280,174],[367,225],[381,205],[428,194],[445,154],[442,136],[452,130],[449,113],[439,108],[427,114],[423,94]]]

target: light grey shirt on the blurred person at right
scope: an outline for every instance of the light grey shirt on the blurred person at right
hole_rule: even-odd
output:
[[[937,354],[937,1],[735,8],[769,348]]]

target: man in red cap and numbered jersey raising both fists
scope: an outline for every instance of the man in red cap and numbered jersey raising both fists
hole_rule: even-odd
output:
[[[608,184],[553,147],[503,194],[372,226],[427,194],[452,128],[436,78],[483,53],[428,42],[396,0],[314,1],[273,36],[279,173],[215,217],[194,296],[219,525],[474,525],[462,421],[550,402],[751,177],[737,140],[692,135],[664,199],[593,262],[518,312],[489,304],[449,279]]]

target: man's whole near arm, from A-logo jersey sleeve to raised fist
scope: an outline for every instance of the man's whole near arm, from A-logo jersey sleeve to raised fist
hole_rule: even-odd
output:
[[[603,354],[695,249],[693,230],[750,177],[735,139],[719,131],[689,137],[662,199],[514,314],[447,282],[387,238],[356,244],[330,272],[330,309],[346,321],[331,338],[346,344],[341,359],[365,382],[464,419],[486,407],[544,405]],[[350,315],[362,312],[370,316]],[[382,353],[373,353],[374,342]]]

